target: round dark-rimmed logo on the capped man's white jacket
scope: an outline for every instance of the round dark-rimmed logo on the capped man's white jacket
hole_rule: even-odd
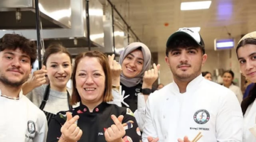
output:
[[[210,119],[210,114],[208,111],[206,111],[206,109],[200,109],[196,111],[193,119],[197,124],[206,124]]]

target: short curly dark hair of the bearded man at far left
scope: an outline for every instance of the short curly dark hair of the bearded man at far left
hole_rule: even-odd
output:
[[[36,61],[36,44],[18,34],[5,34],[0,38],[0,52],[6,49],[16,50],[19,48],[23,53],[26,53],[31,59],[31,65]]]

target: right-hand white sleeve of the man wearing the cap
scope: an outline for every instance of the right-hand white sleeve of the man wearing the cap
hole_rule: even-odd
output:
[[[216,116],[216,137],[218,142],[242,142],[243,117],[238,99],[227,90],[220,100]]]

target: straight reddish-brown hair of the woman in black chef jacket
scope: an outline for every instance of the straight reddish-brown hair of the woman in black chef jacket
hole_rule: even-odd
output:
[[[85,57],[97,58],[97,60],[100,62],[100,65],[102,65],[102,69],[105,73],[105,90],[103,94],[103,102],[112,101],[113,100],[112,80],[111,80],[110,65],[108,63],[107,57],[103,53],[100,53],[99,51],[90,51],[87,53],[80,53],[75,58],[75,65],[72,73],[73,92],[71,96],[71,105],[74,105],[81,101],[81,97],[78,94],[78,89],[76,89],[75,75],[76,75],[76,70],[78,69],[78,63],[80,62],[80,60],[82,60],[82,58],[85,58]]]

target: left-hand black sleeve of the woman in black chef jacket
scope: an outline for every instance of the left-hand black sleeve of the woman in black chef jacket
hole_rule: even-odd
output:
[[[60,116],[55,116],[51,121],[49,125],[49,130],[48,130],[48,136],[47,136],[47,141],[46,142],[57,142],[59,141],[59,138],[61,136],[61,124],[58,121],[60,119]]]

